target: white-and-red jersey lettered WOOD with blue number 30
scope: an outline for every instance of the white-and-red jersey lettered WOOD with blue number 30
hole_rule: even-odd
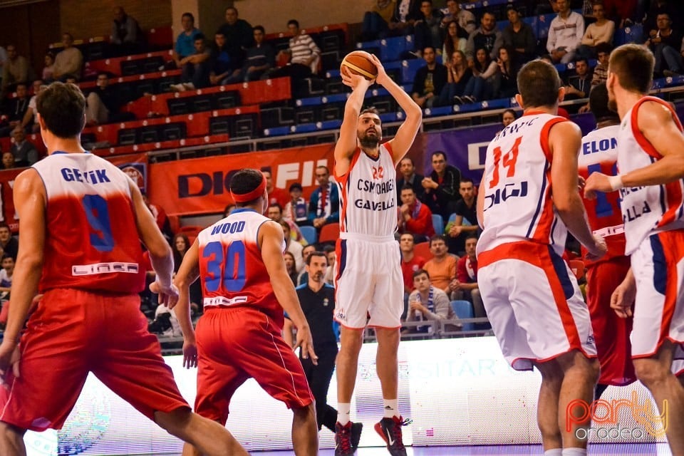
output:
[[[259,227],[270,219],[252,209],[235,209],[203,229],[199,241],[199,277],[204,309],[212,306],[257,307],[283,326],[283,309],[257,244]],[[283,252],[285,239],[283,238]]]

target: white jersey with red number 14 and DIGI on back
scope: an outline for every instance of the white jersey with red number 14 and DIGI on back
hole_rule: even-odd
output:
[[[567,229],[551,200],[549,130],[566,119],[529,112],[504,128],[487,147],[480,192],[484,231],[477,252],[500,244],[532,241],[565,248]]]

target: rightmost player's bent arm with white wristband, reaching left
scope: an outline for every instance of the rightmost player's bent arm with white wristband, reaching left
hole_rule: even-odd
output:
[[[646,101],[638,109],[638,128],[662,158],[646,167],[614,177],[592,173],[584,190],[588,197],[593,197],[596,191],[613,192],[622,187],[667,184],[684,178],[684,136],[672,112],[655,101]]]

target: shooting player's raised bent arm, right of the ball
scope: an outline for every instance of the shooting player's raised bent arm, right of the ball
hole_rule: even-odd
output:
[[[401,124],[397,130],[397,134],[389,140],[394,154],[394,165],[398,165],[401,159],[406,155],[415,140],[415,135],[420,130],[420,124],[423,122],[423,110],[420,109],[411,95],[405,92],[403,88],[397,85],[392,78],[385,72],[383,64],[380,63],[377,57],[371,56],[371,61],[378,67],[378,78],[375,81],[383,86],[392,97],[397,100],[400,108],[406,113],[406,120]]]

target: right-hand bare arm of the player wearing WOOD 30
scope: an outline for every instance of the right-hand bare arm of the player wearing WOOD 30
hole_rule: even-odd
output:
[[[297,342],[294,348],[301,346],[302,358],[311,356],[311,361],[316,364],[318,356],[314,353],[311,328],[309,328],[309,322],[306,321],[304,311],[301,310],[299,297],[294,289],[294,284],[287,275],[285,260],[283,259],[283,229],[276,222],[264,222],[259,228],[257,239],[261,247],[261,259],[271,277],[271,286],[273,286],[276,298],[297,328]]]

